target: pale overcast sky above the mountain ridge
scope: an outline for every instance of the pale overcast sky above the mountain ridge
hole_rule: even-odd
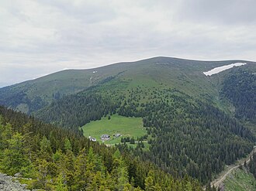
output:
[[[256,61],[254,0],[0,0],[0,87],[154,56]]]

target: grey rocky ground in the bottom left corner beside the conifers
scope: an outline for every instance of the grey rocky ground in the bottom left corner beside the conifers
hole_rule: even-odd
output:
[[[12,176],[7,176],[0,173],[0,190],[1,191],[29,191],[26,189],[26,184],[19,183]]]

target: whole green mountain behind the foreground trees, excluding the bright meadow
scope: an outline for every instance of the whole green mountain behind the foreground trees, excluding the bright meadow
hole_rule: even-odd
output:
[[[248,70],[241,83],[249,80],[246,83],[250,94],[246,100],[242,100],[244,95],[240,92],[246,85],[238,86],[236,92],[230,88],[237,86],[232,84],[236,68],[212,77],[202,74],[214,67],[237,62],[244,61],[202,62],[157,57],[101,67],[95,69],[97,73],[93,73],[94,70],[64,71],[44,77],[43,84],[54,77],[59,80],[62,74],[61,79],[71,79],[76,73],[77,77],[84,77],[85,90],[74,94],[67,88],[67,82],[59,84],[56,90],[49,87],[38,90],[38,94],[35,91],[34,95],[41,97],[47,106],[29,109],[29,112],[33,112],[36,118],[70,128],[80,135],[82,132],[78,127],[109,115],[143,118],[147,135],[140,140],[135,138],[135,141],[147,141],[149,149],[143,149],[143,142],[133,148],[126,144],[117,145],[118,148],[132,152],[144,161],[150,159],[172,176],[180,178],[189,174],[205,184],[213,174],[223,170],[225,164],[251,152],[255,142],[254,135],[244,126],[249,123],[254,127],[254,115],[250,110],[255,114],[252,95],[256,92],[250,80],[253,79],[255,63],[247,62],[246,66],[240,67],[242,71]],[[69,72],[73,74],[69,76]],[[236,72],[237,79],[243,77],[242,73]],[[40,88],[38,81],[32,82]],[[22,89],[23,85],[0,90],[0,103],[14,108],[27,104],[15,97],[16,102],[13,102],[16,105],[9,103],[11,92],[16,89],[23,90],[25,97],[29,97],[28,91]],[[73,85],[77,86],[76,83]],[[45,94],[54,94],[54,97],[46,98]],[[240,98],[233,97],[233,94]],[[53,102],[49,104],[50,101]],[[240,106],[243,101],[249,103]],[[86,135],[85,128],[84,131]]]

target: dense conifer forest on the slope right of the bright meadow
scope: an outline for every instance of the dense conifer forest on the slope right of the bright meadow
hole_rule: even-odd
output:
[[[135,151],[136,155],[151,159],[172,174],[182,176],[186,171],[206,182],[224,164],[251,152],[251,132],[216,107],[173,90],[156,92],[157,99],[164,96],[161,101],[149,101],[134,110],[130,104],[119,109],[125,116],[141,115],[152,137],[150,152]]]

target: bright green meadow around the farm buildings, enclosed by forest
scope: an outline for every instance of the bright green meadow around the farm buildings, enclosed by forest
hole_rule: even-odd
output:
[[[104,142],[106,145],[119,143],[122,137],[137,139],[137,137],[147,134],[146,129],[143,127],[142,118],[126,118],[117,114],[112,115],[110,119],[102,118],[99,121],[91,121],[81,128],[85,137],[92,136],[99,142],[102,142],[101,135],[110,135],[110,139]],[[116,133],[121,134],[122,137],[114,138],[113,135]]]

